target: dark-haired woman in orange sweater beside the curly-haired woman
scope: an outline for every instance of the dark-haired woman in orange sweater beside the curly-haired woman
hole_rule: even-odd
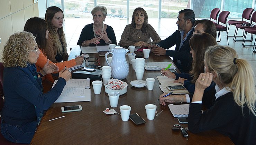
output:
[[[47,59],[46,53],[45,53],[46,43],[47,43],[47,38],[49,33],[49,31],[47,30],[46,21],[38,17],[32,17],[27,20],[24,26],[24,31],[33,33],[33,35],[36,37],[35,40],[41,52],[36,62],[37,71],[40,71],[44,67],[47,61],[49,61],[49,63],[54,63],[51,60]],[[75,65],[81,65],[83,61],[84,61],[83,57],[76,57],[75,59],[71,59],[63,62],[57,62],[54,64],[58,66],[59,71],[61,71],[64,67],[70,68]],[[54,72],[54,73],[58,73],[58,72]],[[53,82],[54,82],[54,79],[51,74],[47,74],[45,75],[45,77],[42,78],[44,92],[47,92],[52,87]]]

